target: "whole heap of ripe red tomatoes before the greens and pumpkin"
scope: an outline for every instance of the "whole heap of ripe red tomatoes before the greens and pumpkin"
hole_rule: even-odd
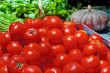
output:
[[[110,51],[72,22],[28,18],[0,32],[0,73],[110,73]]]

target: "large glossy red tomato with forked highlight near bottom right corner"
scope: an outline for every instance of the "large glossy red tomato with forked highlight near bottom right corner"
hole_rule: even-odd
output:
[[[96,56],[88,56],[82,59],[82,66],[86,69],[87,73],[100,72],[100,60]]]

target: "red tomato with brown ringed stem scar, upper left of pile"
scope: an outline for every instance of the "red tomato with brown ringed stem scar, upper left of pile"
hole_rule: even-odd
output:
[[[23,36],[24,36],[24,40],[26,42],[39,42],[39,40],[40,40],[40,38],[39,38],[39,32],[35,28],[27,29],[24,32],[24,35]]]

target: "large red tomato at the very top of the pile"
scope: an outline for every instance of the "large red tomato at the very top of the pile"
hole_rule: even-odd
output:
[[[62,20],[57,17],[57,16],[50,16],[48,19],[47,19],[47,24],[46,24],[46,27],[47,28],[62,28],[62,25],[63,22]]]

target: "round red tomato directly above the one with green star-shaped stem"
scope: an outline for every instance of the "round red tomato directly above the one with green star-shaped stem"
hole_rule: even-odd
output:
[[[7,46],[7,51],[11,55],[20,55],[22,52],[23,48],[21,44],[17,41],[12,41],[8,46]]]

